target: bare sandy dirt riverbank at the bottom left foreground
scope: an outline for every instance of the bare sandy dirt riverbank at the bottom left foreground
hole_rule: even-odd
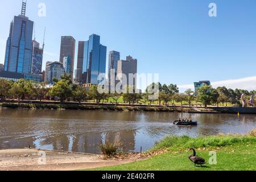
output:
[[[40,156],[40,154],[46,154],[46,158],[44,158],[44,155]],[[29,148],[11,149],[0,150],[0,171],[72,171],[117,166],[138,160],[137,156],[129,159],[104,160],[101,155],[44,151]]]

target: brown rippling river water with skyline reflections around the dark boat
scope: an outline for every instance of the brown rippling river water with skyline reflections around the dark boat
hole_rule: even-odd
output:
[[[179,118],[192,118],[199,125],[173,125]],[[167,135],[245,134],[256,128],[255,121],[256,115],[236,114],[0,109],[0,149],[30,145],[100,154],[100,143],[108,140],[121,143],[125,151],[139,151]]]

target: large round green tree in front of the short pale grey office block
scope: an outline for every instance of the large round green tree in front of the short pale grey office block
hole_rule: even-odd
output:
[[[72,89],[69,85],[69,81],[60,80],[55,85],[53,85],[50,95],[52,97],[59,97],[60,102],[63,103],[67,98],[72,97]]]

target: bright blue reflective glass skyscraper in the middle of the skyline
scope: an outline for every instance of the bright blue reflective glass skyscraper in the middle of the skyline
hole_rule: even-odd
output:
[[[105,73],[106,46],[100,44],[100,36],[95,34],[90,35],[89,40],[84,42],[84,56],[82,56],[82,84],[100,84],[104,81],[104,78],[98,80],[98,76]]]

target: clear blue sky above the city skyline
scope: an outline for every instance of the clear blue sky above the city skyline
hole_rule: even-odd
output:
[[[1,0],[0,63],[21,2]],[[38,16],[41,2],[46,17]],[[217,17],[208,15],[211,2]],[[108,51],[137,58],[138,72],[159,73],[160,82],[189,88],[194,81],[210,80],[256,89],[255,0],[27,0],[26,15],[36,22],[40,43],[46,26],[44,67],[59,60],[62,35],[72,35],[78,44],[98,34]]]

